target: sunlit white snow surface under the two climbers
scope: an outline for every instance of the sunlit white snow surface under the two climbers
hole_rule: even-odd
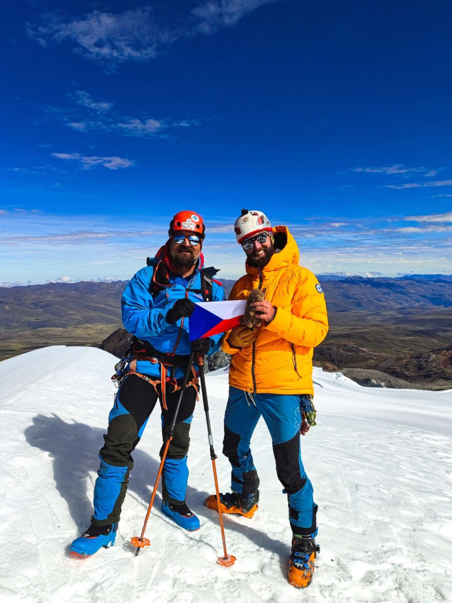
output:
[[[116,360],[92,348],[49,347],[0,363],[2,481],[0,601],[254,602],[452,601],[452,391],[363,388],[315,369],[318,425],[302,438],[304,465],[319,505],[321,553],[309,589],[286,582],[290,528],[271,440],[260,421],[252,443],[259,511],[225,517],[233,567],[222,555],[206,421],[192,424],[187,502],[201,520],[185,532],[160,511],[160,494],[134,557],[162,443],[159,412],[139,448],[113,548],[68,554],[89,525],[92,492]],[[227,373],[207,376],[216,466],[221,455]]]

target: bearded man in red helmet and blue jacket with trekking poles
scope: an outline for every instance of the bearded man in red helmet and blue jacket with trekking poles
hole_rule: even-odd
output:
[[[113,545],[133,468],[131,452],[139,443],[157,400],[162,409],[165,442],[190,353],[210,355],[219,349],[221,335],[189,341],[194,303],[224,300],[221,283],[213,279],[215,270],[204,268],[204,231],[198,213],[178,212],[170,223],[166,244],[153,260],[148,260],[146,268],[134,275],[122,295],[122,321],[134,335],[132,353],[119,369],[119,390],[108,417],[105,444],[99,452],[101,465],[94,488],[91,525],[72,543],[74,554],[93,555],[102,546]],[[199,519],[186,503],[187,452],[198,397],[198,374],[195,364],[162,473],[162,511],[189,531],[199,529]],[[163,446],[161,455],[162,452]]]

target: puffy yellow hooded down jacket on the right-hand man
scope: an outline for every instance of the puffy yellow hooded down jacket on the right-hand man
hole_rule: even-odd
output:
[[[281,251],[262,270],[246,265],[229,299],[245,300],[251,289],[260,288],[276,314],[241,350],[228,344],[230,331],[225,333],[222,349],[232,355],[229,384],[258,394],[313,394],[313,348],[328,331],[325,297],[316,277],[298,265],[298,246],[289,230],[277,226],[273,232]]]

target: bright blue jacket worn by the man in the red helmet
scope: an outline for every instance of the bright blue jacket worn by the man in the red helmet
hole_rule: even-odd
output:
[[[122,294],[122,322],[124,328],[132,335],[145,339],[159,352],[174,353],[178,355],[190,354],[189,325],[190,318],[182,318],[177,323],[169,324],[166,321],[166,312],[174,305],[175,301],[186,297],[187,289],[201,289],[201,270],[204,267],[199,256],[198,266],[193,274],[184,278],[179,274],[168,271],[171,286],[165,287],[154,298],[151,295],[151,282],[154,274],[153,266],[146,266],[139,270],[130,280]],[[157,261],[157,260],[155,260]],[[204,301],[202,295],[189,291],[188,297],[193,302]],[[220,283],[212,283],[212,301],[223,301],[224,291]],[[208,355],[218,352],[220,335],[213,335],[210,339]],[[159,376],[159,365],[148,361],[138,361],[137,371],[149,376]],[[183,377],[183,371],[176,369],[175,378]]]

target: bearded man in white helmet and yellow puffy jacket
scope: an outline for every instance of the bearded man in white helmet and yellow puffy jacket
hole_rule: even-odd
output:
[[[300,432],[309,429],[315,416],[312,355],[328,331],[325,298],[316,277],[298,265],[297,243],[287,227],[272,228],[262,212],[243,209],[234,231],[246,253],[246,274],[229,299],[248,300],[253,289],[261,289],[264,299],[248,302],[246,314],[254,314],[257,326],[236,327],[222,341],[222,349],[232,356],[223,441],[232,466],[232,492],[221,494],[221,508],[244,517],[257,510],[259,477],[250,441],[262,416],[289,500],[293,535],[288,579],[303,588],[312,579],[319,547],[317,505],[301,461]],[[218,511],[215,496],[205,504]]]

